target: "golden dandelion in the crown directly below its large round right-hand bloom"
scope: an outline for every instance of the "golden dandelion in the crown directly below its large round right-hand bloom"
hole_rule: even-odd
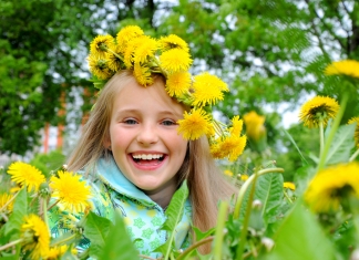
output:
[[[175,72],[168,75],[166,91],[170,96],[181,96],[188,92],[191,86],[191,73]]]

